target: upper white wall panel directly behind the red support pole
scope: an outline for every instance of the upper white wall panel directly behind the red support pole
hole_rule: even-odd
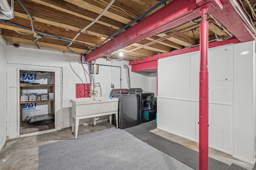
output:
[[[209,50],[209,102],[232,105],[233,101],[233,47],[226,45]],[[199,87],[199,52],[190,54],[191,88]],[[196,90],[194,99],[198,99]]]

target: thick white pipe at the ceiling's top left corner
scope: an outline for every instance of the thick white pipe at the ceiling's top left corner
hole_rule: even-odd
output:
[[[9,6],[7,0],[1,0],[0,11],[2,12],[2,14],[0,14],[0,19],[2,20],[12,19],[14,17],[13,6],[14,6],[14,0],[11,1],[11,6]]]

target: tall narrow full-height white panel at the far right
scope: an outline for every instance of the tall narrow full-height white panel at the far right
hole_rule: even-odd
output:
[[[234,44],[234,157],[254,163],[254,42]]]

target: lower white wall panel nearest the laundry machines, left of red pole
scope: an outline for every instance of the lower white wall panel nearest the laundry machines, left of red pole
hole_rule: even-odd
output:
[[[195,140],[195,103],[158,97],[157,127]]]

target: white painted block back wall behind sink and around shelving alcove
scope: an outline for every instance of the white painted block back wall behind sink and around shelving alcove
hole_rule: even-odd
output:
[[[43,67],[56,67],[62,70],[62,108],[58,111],[57,114],[62,115],[62,128],[70,127],[72,125],[72,112],[71,112],[71,103],[70,99],[76,97],[76,83],[89,83],[89,77],[82,69],[82,66],[78,63],[80,55],[75,55],[72,53],[67,53],[63,51],[56,51],[52,49],[37,49],[34,46],[20,44],[20,47],[15,48],[13,45],[8,45],[6,47],[7,51],[7,64],[20,64],[22,66],[43,66]],[[112,61],[106,61],[105,59],[97,59],[97,64],[111,65]],[[128,88],[127,83],[127,74],[124,69],[124,65],[128,65],[128,61],[116,61],[113,63],[115,66],[120,66],[122,71],[122,88]],[[84,65],[88,71],[88,67]],[[130,67],[130,66],[129,66]],[[131,67],[130,67],[131,70]],[[55,77],[58,79],[58,77]],[[142,89],[149,89],[149,77],[146,75],[141,75],[138,73],[130,73],[131,84],[132,86],[136,85]],[[17,78],[18,79],[18,78]],[[95,82],[100,82],[102,88],[102,96],[110,95],[111,83],[115,85],[115,88],[120,88],[120,68],[119,67],[108,67],[100,66],[99,74],[95,76]],[[16,82],[15,82],[16,83]],[[98,91],[98,96],[100,96],[100,88],[96,87]],[[17,90],[12,93],[17,94]],[[17,96],[17,95],[16,95]],[[14,100],[16,99],[14,94]],[[15,108],[14,108],[15,110]],[[10,112],[10,117],[15,126],[9,126],[12,135],[17,133],[17,114],[16,111]],[[101,117],[100,120],[107,119],[107,117]],[[93,119],[85,119],[80,121],[82,123],[92,122]],[[9,122],[10,123],[10,122]],[[14,133],[13,133],[14,132]],[[7,134],[8,136],[8,134]]]

